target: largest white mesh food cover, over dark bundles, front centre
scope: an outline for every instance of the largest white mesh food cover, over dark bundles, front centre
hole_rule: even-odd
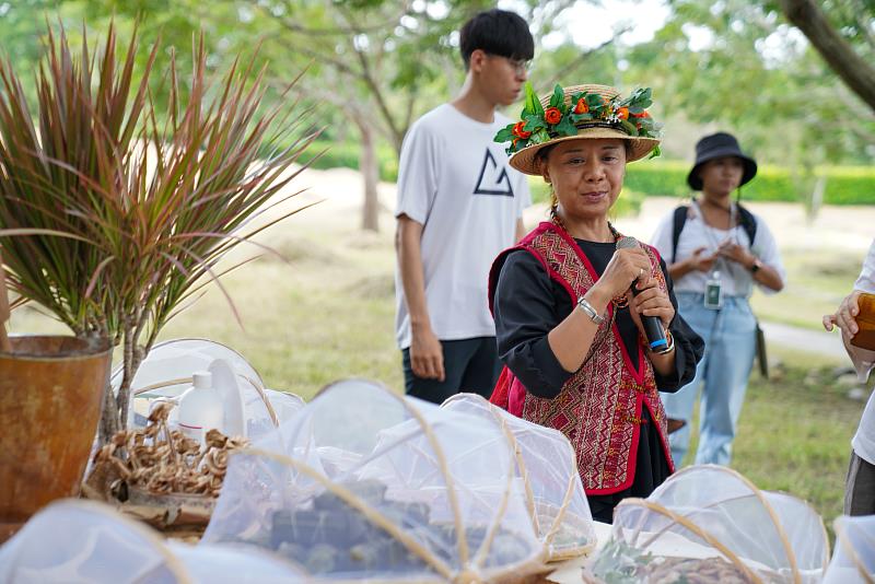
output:
[[[269,549],[326,580],[509,581],[544,558],[501,428],[363,381],[328,386],[231,456],[201,541]]]

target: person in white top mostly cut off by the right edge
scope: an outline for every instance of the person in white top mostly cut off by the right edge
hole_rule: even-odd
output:
[[[854,283],[853,292],[842,301],[836,314],[824,316],[824,327],[832,330],[835,325],[848,337],[856,335],[856,316],[860,314],[858,299],[863,292],[875,294],[875,241],[863,260],[863,270]],[[844,513],[875,515],[875,393],[870,396],[856,434],[851,441],[851,464],[844,486]]]

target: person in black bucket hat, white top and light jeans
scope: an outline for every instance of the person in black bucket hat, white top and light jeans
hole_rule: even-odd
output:
[[[754,284],[767,293],[780,291],[784,270],[768,225],[732,200],[756,174],[757,162],[734,136],[705,136],[696,144],[696,162],[687,175],[687,184],[701,197],[668,213],[652,240],[667,258],[680,314],[705,340],[692,383],[663,396],[669,418],[685,423],[670,436],[678,465],[689,446],[687,422],[699,386],[702,414],[695,462],[727,465],[758,348],[766,371],[762,336],[748,299]]]

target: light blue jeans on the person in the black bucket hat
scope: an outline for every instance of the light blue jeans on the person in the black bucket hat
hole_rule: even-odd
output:
[[[678,312],[704,340],[704,355],[688,385],[677,393],[662,394],[666,414],[687,421],[668,437],[672,457],[680,466],[687,454],[692,407],[703,384],[695,464],[728,465],[754,364],[757,320],[743,296],[724,297],[723,307],[716,311],[702,305],[702,294],[676,292],[676,296]]]

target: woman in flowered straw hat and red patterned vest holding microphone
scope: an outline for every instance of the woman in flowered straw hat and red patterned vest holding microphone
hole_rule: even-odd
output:
[[[657,152],[650,90],[621,98],[604,85],[557,86],[540,101],[526,92],[523,120],[495,140],[511,142],[512,166],[550,185],[552,220],[492,266],[506,365],[492,400],[568,436],[593,517],[609,523],[621,499],[649,495],[673,471],[657,390],[692,378],[702,341],[676,316],[658,254],[608,221],[627,162]],[[658,319],[657,350],[640,315]]]

